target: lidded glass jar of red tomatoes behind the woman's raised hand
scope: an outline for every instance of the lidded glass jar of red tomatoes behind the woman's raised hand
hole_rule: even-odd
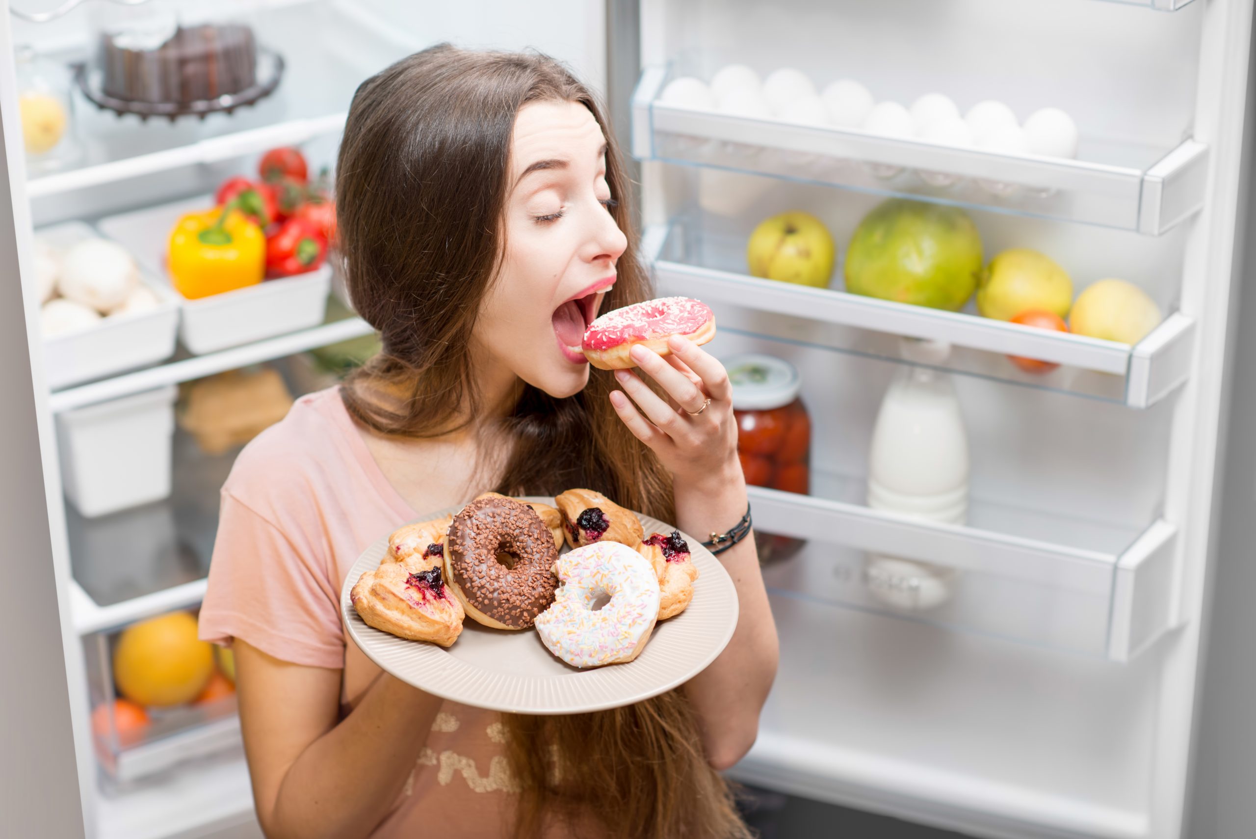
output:
[[[737,420],[737,456],[746,484],[806,495],[811,489],[811,420],[799,393],[803,378],[789,362],[745,354],[725,359]],[[803,546],[759,533],[760,561],[786,559]]]

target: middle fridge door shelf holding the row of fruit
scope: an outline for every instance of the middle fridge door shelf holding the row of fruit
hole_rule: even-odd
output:
[[[696,265],[679,225],[652,226],[642,252],[659,294],[698,298],[715,308],[720,328],[902,360],[892,337],[950,343],[951,372],[1145,408],[1172,393],[1191,369],[1194,320],[1173,313],[1135,345],[1035,329],[962,311],[945,311],[835,289],[815,289]],[[715,237],[708,237],[715,239]],[[702,242],[703,252],[718,242]],[[725,247],[723,250],[727,250]],[[740,255],[740,252],[739,252]],[[728,260],[722,260],[728,261]],[[1061,367],[1026,373],[1007,355]]]

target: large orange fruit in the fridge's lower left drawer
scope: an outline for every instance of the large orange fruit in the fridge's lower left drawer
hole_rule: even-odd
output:
[[[172,612],[127,627],[113,651],[113,682],[151,707],[191,702],[214,672],[214,648],[196,637],[196,618]]]

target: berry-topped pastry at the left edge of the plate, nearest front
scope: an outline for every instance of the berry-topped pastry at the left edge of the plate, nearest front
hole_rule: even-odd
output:
[[[404,561],[363,574],[349,600],[367,625],[409,641],[448,647],[462,632],[466,612],[445,585],[440,566],[411,571]]]

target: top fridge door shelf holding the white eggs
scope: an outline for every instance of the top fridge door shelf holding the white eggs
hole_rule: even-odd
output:
[[[1153,148],[1083,137],[1081,160],[1000,154],[682,108],[658,100],[668,78],[667,68],[646,68],[633,94],[632,152],[643,161],[765,175],[1148,235],[1169,230],[1203,206],[1208,148],[1194,139],[1176,148]]]

